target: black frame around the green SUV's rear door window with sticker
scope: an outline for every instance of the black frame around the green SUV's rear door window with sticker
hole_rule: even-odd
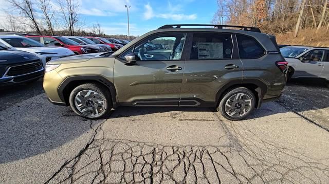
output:
[[[193,45],[193,38],[194,38],[194,33],[217,33],[217,34],[230,34],[231,35],[231,40],[232,40],[232,53],[231,53],[231,58],[223,58],[223,59],[191,59],[191,52],[192,52],[192,45]],[[232,59],[239,59],[239,58],[235,58],[236,57],[236,44],[234,42],[234,37],[233,37],[234,33],[230,33],[230,32],[210,32],[210,31],[194,31],[191,32],[191,36],[190,36],[190,43],[188,45],[188,55],[186,55],[186,60],[232,60]],[[239,54],[239,52],[237,53]]]

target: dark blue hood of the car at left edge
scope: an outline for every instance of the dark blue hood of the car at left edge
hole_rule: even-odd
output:
[[[0,65],[24,63],[36,59],[39,59],[39,57],[28,52],[18,50],[0,51]]]

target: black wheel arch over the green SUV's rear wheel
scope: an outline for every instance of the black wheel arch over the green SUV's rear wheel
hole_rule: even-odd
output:
[[[253,92],[256,97],[255,108],[259,109],[262,105],[262,100],[264,95],[267,92],[267,86],[259,79],[243,79],[241,80],[233,80],[229,83],[225,84],[222,88],[217,91],[216,94],[216,107],[220,104],[222,98],[228,90],[237,87],[245,87]]]

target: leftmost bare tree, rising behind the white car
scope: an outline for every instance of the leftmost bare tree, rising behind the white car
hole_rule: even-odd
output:
[[[25,23],[24,21],[21,21],[22,24],[29,26],[35,32],[41,34],[39,23],[36,19],[36,13],[34,11],[33,3],[31,0],[8,0],[8,2],[14,9],[17,9],[19,11],[21,16],[29,19],[29,21],[31,21],[32,23],[29,24]]]

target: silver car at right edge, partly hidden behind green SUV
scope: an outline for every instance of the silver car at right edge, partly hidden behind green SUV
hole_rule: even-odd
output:
[[[329,81],[329,48],[288,46],[280,49],[289,63],[287,78],[321,78]]]

